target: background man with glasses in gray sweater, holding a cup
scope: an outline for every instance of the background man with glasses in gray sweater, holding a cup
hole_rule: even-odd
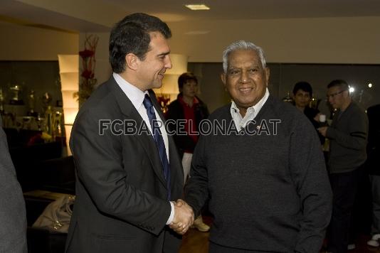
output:
[[[366,161],[368,119],[349,95],[344,80],[327,85],[327,99],[337,109],[331,126],[318,129],[330,141],[328,171],[333,193],[332,219],[327,230],[327,251],[347,252],[349,227],[357,194],[360,167]]]

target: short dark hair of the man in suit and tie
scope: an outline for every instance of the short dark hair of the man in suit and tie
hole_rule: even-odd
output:
[[[171,37],[167,23],[148,14],[131,14],[115,24],[110,34],[110,63],[112,70],[121,73],[125,70],[125,55],[133,53],[140,60],[145,59],[150,50],[151,32],[159,32],[165,38]]]

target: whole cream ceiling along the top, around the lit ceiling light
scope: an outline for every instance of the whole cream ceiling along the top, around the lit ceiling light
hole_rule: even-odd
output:
[[[204,0],[209,11],[190,11],[184,0],[0,0],[0,21],[73,32],[104,32],[127,14],[164,21],[249,20],[380,16],[380,0]]]

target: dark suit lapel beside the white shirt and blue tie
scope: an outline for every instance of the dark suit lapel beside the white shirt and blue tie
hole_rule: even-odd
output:
[[[120,111],[122,114],[124,114],[125,117],[123,119],[132,119],[136,122],[137,129],[139,126],[142,126],[144,123],[144,120],[140,116],[139,112],[137,112],[137,109],[133,106],[130,99],[128,99],[127,95],[122,91],[122,89],[117,85],[117,82],[112,77],[112,93],[116,97],[117,104],[119,104]],[[155,101],[155,99],[154,99]],[[157,102],[155,101],[157,104]],[[160,115],[161,116],[161,115]],[[149,130],[148,130],[149,131]],[[159,181],[161,181],[162,185],[166,188],[166,180],[164,178],[164,169],[162,168],[161,159],[159,158],[159,153],[157,151],[157,146],[152,138],[152,135],[148,135],[147,132],[143,131],[141,134],[138,134],[137,139],[139,143],[142,145],[143,149],[145,150],[147,158],[149,158],[150,163],[152,164],[152,168],[154,173],[156,173],[157,177],[159,178]]]

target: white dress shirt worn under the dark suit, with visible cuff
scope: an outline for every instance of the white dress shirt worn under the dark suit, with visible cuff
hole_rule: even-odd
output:
[[[148,91],[146,90],[145,92],[143,92],[142,90],[139,90],[139,88],[137,88],[134,85],[131,85],[129,82],[124,80],[119,74],[115,72],[112,75],[115,78],[117,85],[120,86],[120,88],[125,93],[125,95],[127,95],[128,99],[130,99],[134,108],[137,109],[137,112],[139,112],[145,124],[147,124],[149,131],[152,133],[152,126],[150,125],[150,122],[149,122],[147,109],[144,107],[144,104],[142,104],[142,102],[144,101],[145,94],[148,94]],[[159,130],[161,131],[162,138],[164,139],[165,149],[167,151],[167,160],[169,162],[169,141],[167,138],[167,131],[165,129],[164,122],[162,121],[161,117],[159,117],[159,114],[156,108],[154,108],[154,113],[156,114],[157,122],[161,122],[161,124],[159,125]],[[153,135],[152,135],[152,138],[154,138]],[[167,224],[170,224],[171,221],[174,219],[174,205],[171,202],[169,203],[171,206],[171,212],[170,212],[169,219],[167,220]]]

